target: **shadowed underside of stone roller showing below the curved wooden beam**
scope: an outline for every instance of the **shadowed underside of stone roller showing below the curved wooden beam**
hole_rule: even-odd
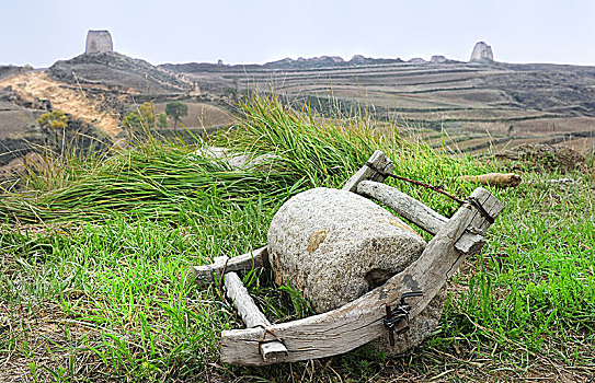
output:
[[[419,346],[438,325],[446,298],[447,293],[445,285],[420,315],[416,315],[409,321],[409,330],[400,335],[394,335],[393,347],[389,344],[388,332],[381,337],[370,341],[368,346],[371,349],[385,352],[388,356],[404,353],[413,347]]]

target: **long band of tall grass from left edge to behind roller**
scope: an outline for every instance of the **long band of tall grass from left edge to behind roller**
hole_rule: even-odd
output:
[[[170,219],[188,205],[211,198],[240,206],[253,198],[278,205],[307,188],[337,187],[377,149],[393,159],[397,173],[450,187],[456,187],[457,175],[478,169],[470,159],[449,159],[427,146],[407,142],[396,127],[376,126],[365,115],[327,119],[314,116],[308,105],[294,111],[274,95],[254,95],[240,105],[240,112],[234,128],[199,146],[221,144],[248,155],[273,154],[264,161],[271,166],[233,169],[220,159],[202,155],[201,148],[149,136],[107,158],[53,166],[53,176],[30,174],[26,194],[8,195],[0,201],[0,219],[92,221],[114,211]],[[416,197],[426,194],[409,185],[403,188]]]

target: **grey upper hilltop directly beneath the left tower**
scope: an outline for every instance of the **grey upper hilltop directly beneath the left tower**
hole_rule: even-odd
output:
[[[83,54],[57,61],[47,71],[57,81],[134,89],[139,93],[199,94],[198,85],[187,78],[115,51]]]

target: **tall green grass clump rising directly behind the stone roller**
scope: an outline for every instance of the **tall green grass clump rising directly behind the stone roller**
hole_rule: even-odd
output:
[[[451,158],[424,142],[408,141],[400,135],[399,126],[379,123],[365,109],[355,116],[322,118],[313,115],[307,103],[296,111],[273,94],[254,95],[240,104],[240,112],[234,128],[214,141],[238,152],[278,156],[285,170],[308,187],[341,186],[378,149],[394,162],[396,174],[461,195],[474,186],[460,183],[460,175],[494,169],[494,164],[469,155]],[[447,214],[458,207],[444,196],[411,184],[399,183],[398,187]]]

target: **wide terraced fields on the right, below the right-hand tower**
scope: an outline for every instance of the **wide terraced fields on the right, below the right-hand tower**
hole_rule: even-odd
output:
[[[478,62],[377,63],[307,69],[168,66],[214,93],[275,90],[319,109],[362,105],[436,148],[480,154],[526,142],[580,152],[595,138],[595,67]],[[329,100],[335,101],[330,102]],[[444,130],[444,131],[443,131]]]

